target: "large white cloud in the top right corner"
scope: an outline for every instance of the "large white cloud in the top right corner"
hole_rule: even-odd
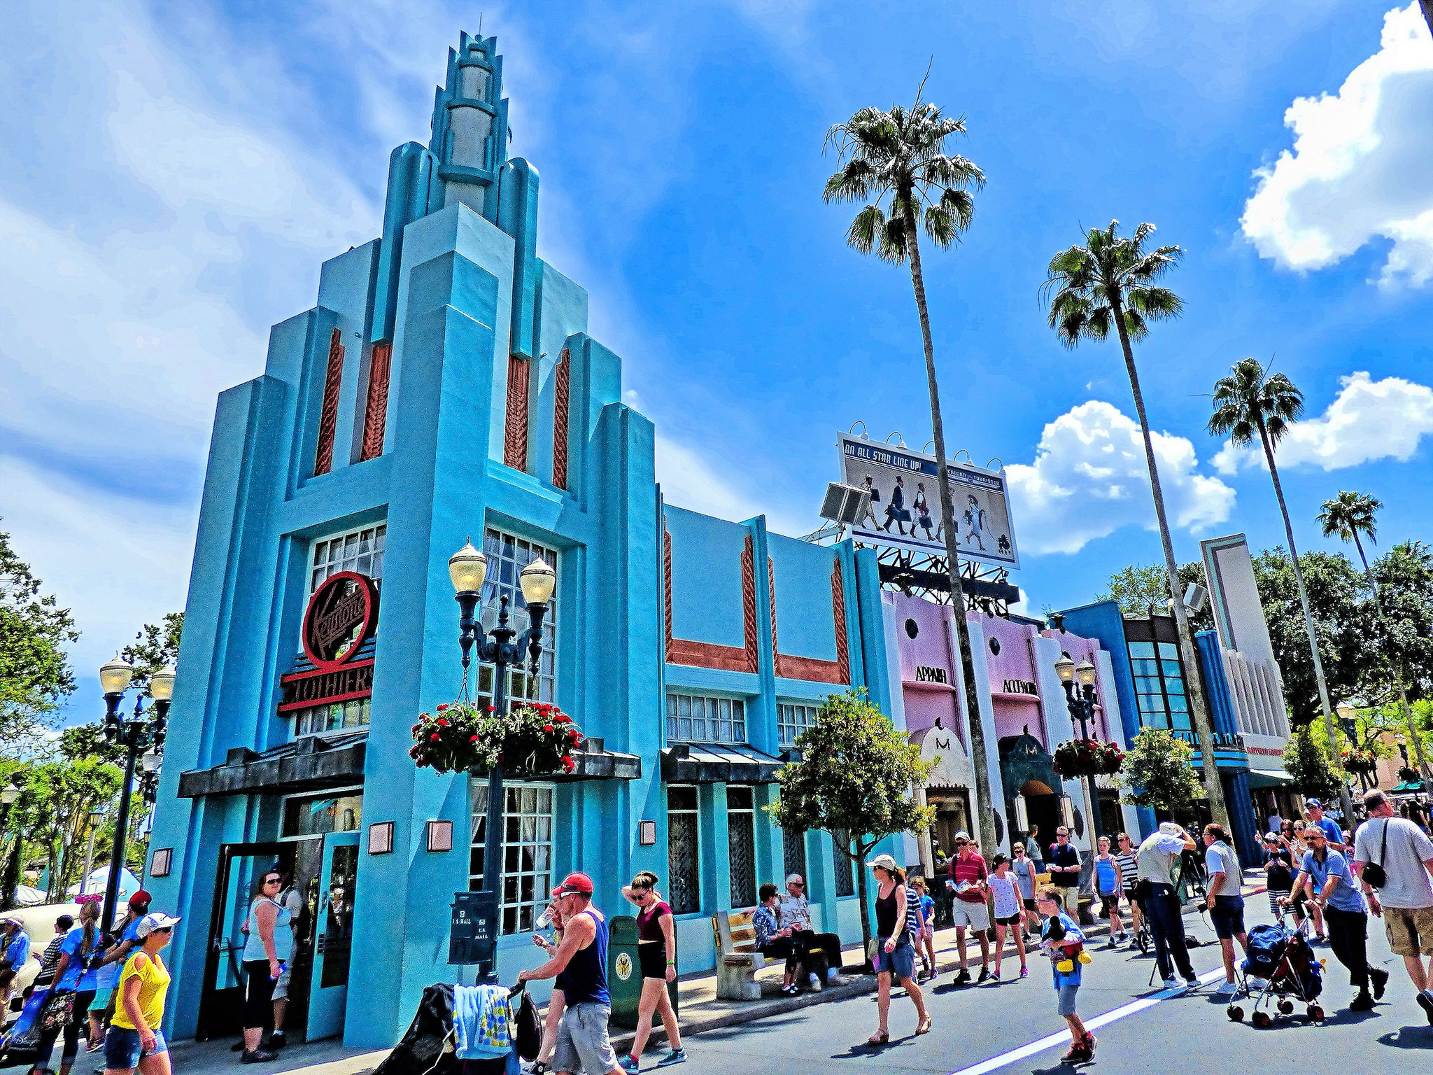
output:
[[[1433,280],[1433,40],[1419,4],[1384,16],[1377,53],[1338,93],[1297,97],[1284,113],[1293,150],[1261,168],[1244,235],[1294,269],[1333,265],[1390,241],[1381,282]]]

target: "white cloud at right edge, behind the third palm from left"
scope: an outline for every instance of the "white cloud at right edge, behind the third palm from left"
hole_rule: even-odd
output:
[[[1338,378],[1338,394],[1317,419],[1290,426],[1278,443],[1278,466],[1307,463],[1324,470],[1396,459],[1406,463],[1423,437],[1433,434],[1433,388],[1401,377],[1373,380],[1358,371]],[[1242,467],[1264,466],[1260,447],[1235,447],[1225,441],[1214,456],[1221,474]]]

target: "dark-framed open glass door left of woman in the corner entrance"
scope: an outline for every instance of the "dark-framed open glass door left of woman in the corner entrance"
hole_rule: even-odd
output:
[[[244,1013],[244,922],[249,916],[254,886],[264,871],[289,853],[279,843],[225,844],[219,850],[218,883],[209,917],[209,950],[199,998],[201,1041],[238,1033]]]

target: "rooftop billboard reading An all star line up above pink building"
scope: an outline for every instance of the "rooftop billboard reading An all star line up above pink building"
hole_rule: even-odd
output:
[[[840,434],[843,482],[868,489],[871,506],[850,536],[866,545],[907,552],[946,553],[940,523],[936,460],[906,447],[881,444],[851,433]],[[1019,568],[1020,553],[1010,525],[1005,470],[946,463],[956,539],[972,560]]]

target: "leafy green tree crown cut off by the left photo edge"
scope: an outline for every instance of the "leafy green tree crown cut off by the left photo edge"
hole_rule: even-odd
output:
[[[79,639],[70,611],[53,595],[0,533],[0,744],[32,750],[75,689],[64,645]]]

